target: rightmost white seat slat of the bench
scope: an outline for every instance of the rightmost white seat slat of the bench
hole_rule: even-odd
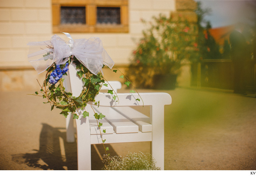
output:
[[[148,116],[131,107],[113,107],[113,109],[138,125],[141,132],[152,132],[152,125]]]

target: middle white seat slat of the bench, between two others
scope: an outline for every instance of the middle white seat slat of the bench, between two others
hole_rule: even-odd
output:
[[[99,106],[95,108],[95,111],[98,113],[103,112],[105,115],[104,119],[110,123],[114,131],[119,133],[138,133],[139,126],[131,122],[129,119],[126,119],[122,114],[115,111],[113,108]]]

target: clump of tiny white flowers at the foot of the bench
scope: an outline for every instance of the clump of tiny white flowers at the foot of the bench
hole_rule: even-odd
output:
[[[128,153],[126,156],[103,156],[107,166],[102,170],[161,170],[160,167],[156,167],[156,162],[150,154]]]

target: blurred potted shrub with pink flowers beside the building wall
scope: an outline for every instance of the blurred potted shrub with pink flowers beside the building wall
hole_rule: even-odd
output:
[[[196,47],[196,26],[162,14],[148,24],[150,27],[143,31],[133,51],[128,74],[140,88],[174,89],[182,64]]]

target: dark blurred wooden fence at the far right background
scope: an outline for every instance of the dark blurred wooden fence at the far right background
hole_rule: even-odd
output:
[[[244,63],[244,87],[247,92],[256,92],[256,60]],[[191,65],[191,86],[234,90],[234,64],[230,59],[205,59]]]

